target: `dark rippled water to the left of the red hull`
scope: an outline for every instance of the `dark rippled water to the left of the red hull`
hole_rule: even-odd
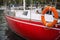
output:
[[[0,40],[25,40],[8,29],[3,10],[0,10]]]

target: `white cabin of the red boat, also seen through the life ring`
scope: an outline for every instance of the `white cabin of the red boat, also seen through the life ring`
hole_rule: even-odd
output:
[[[39,10],[39,13],[36,12]],[[15,17],[22,18],[22,19],[31,19],[34,21],[41,21],[41,9],[36,10],[11,10],[11,12],[15,12]],[[59,10],[57,10],[59,11]],[[60,12],[59,12],[60,14]],[[45,19],[47,22],[52,22],[54,20],[53,14],[45,14]],[[60,19],[58,19],[58,23],[60,23]]]

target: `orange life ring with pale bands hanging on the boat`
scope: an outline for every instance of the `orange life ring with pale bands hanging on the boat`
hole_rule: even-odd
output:
[[[45,20],[44,15],[45,15],[46,12],[49,11],[49,10],[53,12],[53,14],[54,14],[54,20],[53,20],[53,22],[47,23],[46,20]],[[58,12],[56,11],[56,8],[55,8],[55,7],[47,6],[47,7],[42,11],[41,21],[42,21],[42,23],[43,23],[45,26],[48,26],[48,27],[54,26],[54,25],[58,22]]]

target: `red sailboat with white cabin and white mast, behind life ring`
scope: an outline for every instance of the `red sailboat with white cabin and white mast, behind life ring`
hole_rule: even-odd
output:
[[[22,8],[21,8],[22,7]],[[44,25],[41,19],[41,8],[28,7],[25,9],[25,0],[23,6],[11,7],[10,10],[5,10],[5,18],[9,28],[17,35],[25,38],[26,40],[57,40],[60,37],[60,19],[57,15],[57,22],[53,22],[53,15],[44,14],[46,21],[53,22],[49,26]],[[19,9],[19,10],[18,10]],[[21,9],[21,10],[20,10]],[[45,10],[46,11],[46,10]],[[60,10],[57,10],[60,12]],[[53,12],[55,13],[55,12]],[[44,16],[42,15],[42,16]],[[54,16],[56,16],[54,14]],[[45,20],[44,20],[45,21]]]

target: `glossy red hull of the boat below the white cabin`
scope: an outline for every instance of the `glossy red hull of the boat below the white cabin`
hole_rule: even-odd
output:
[[[6,16],[9,27],[27,40],[56,40],[60,30],[44,28],[40,22]],[[37,25],[36,25],[37,24]]]

